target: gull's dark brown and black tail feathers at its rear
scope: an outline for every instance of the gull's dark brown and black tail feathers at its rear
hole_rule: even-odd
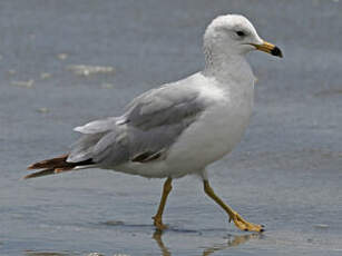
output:
[[[62,155],[56,158],[42,160],[35,163],[28,167],[28,170],[31,169],[42,169],[37,173],[25,176],[25,179],[37,178],[46,175],[55,175],[63,171],[69,171],[79,166],[90,166],[94,165],[91,159],[78,161],[78,163],[68,163],[68,155]]]

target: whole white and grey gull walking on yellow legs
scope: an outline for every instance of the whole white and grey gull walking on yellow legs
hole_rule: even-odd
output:
[[[279,47],[264,41],[241,14],[215,18],[203,38],[205,67],[182,80],[165,83],[133,99],[119,117],[95,120],[74,130],[82,136],[59,157],[38,161],[40,169],[25,178],[85,168],[111,169],[147,178],[166,178],[156,215],[163,213],[173,179],[197,175],[204,191],[237,228],[263,232],[226,205],[208,181],[207,166],[241,141],[253,110],[255,77],[245,56],[261,50],[282,57]]]

